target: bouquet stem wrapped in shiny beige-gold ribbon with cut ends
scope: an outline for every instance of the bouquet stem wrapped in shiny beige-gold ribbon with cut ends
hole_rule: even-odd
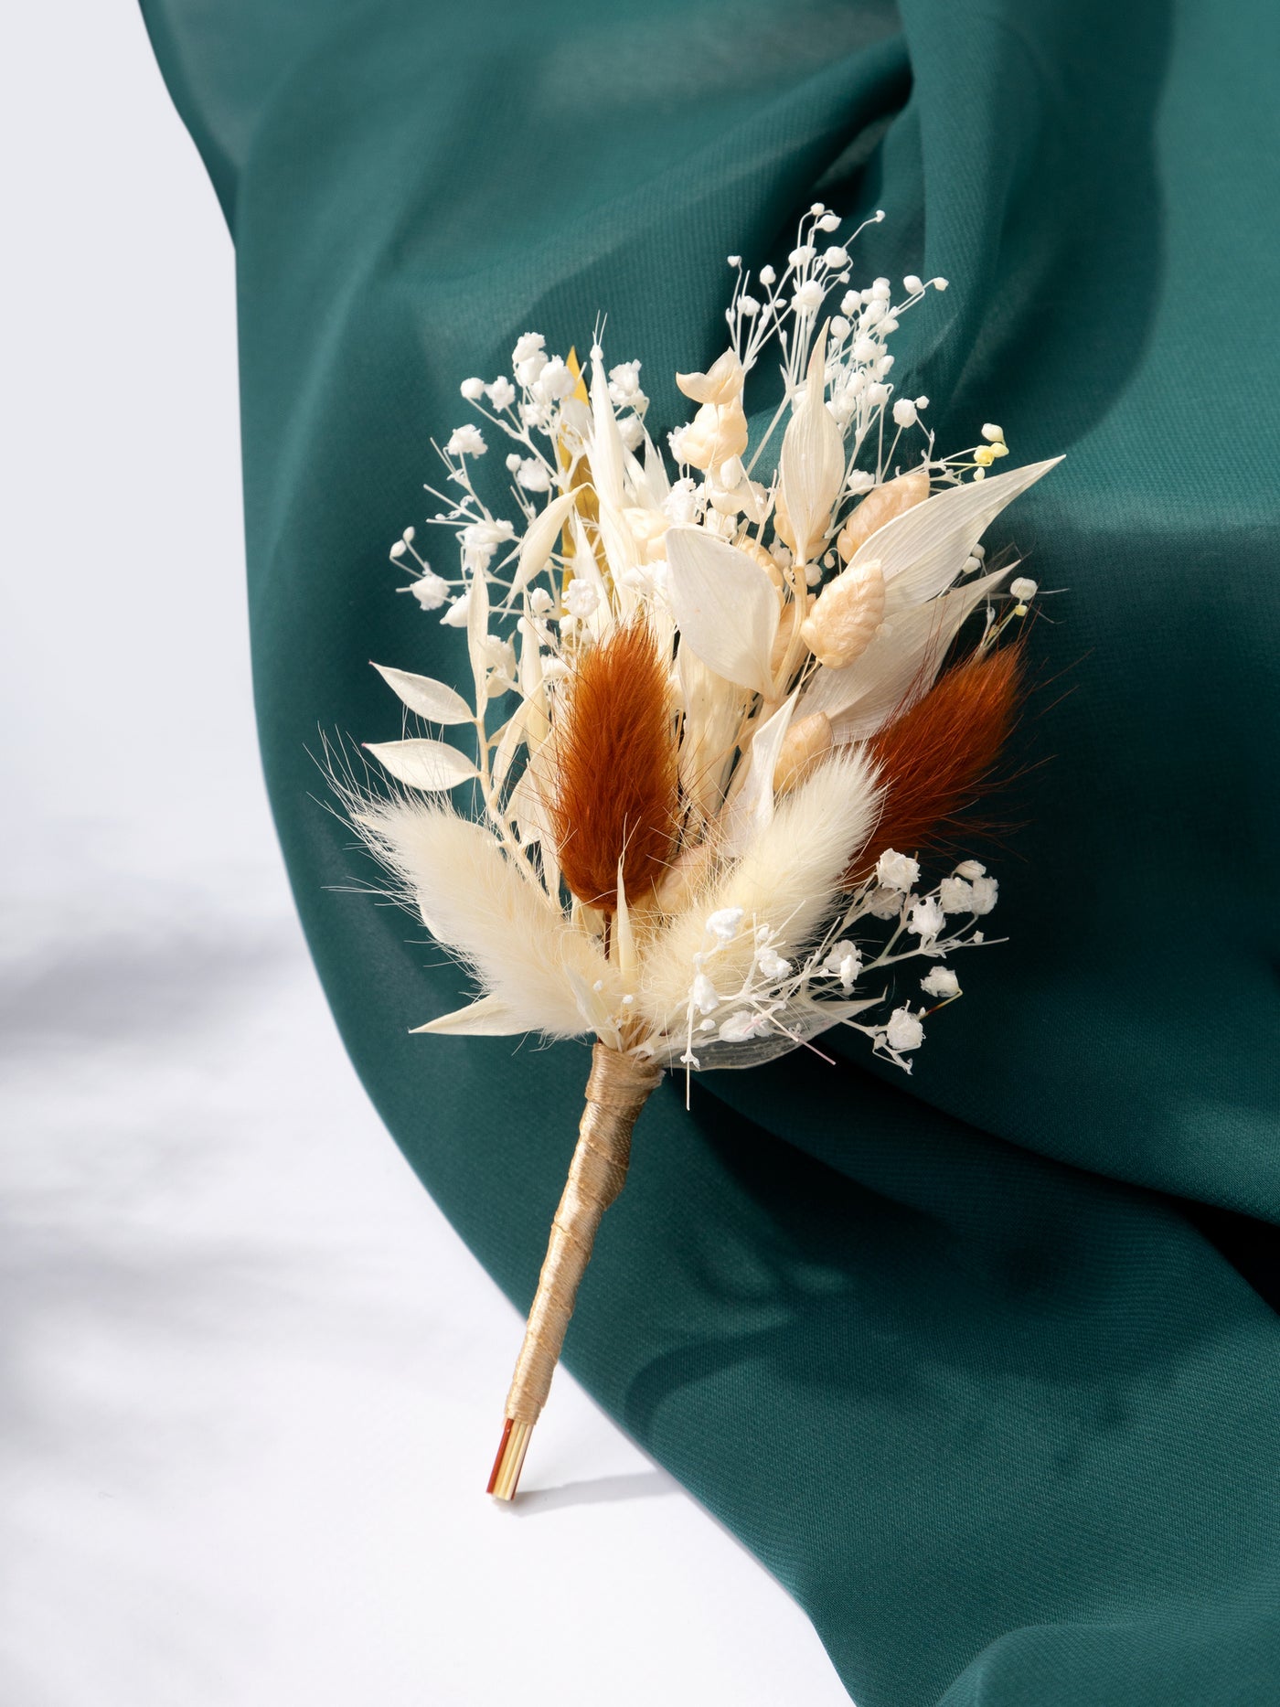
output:
[[[538,1277],[524,1345],[515,1360],[507,1419],[488,1478],[495,1499],[514,1499],[532,1425],[541,1415],[551,1376],[573,1314],[579,1282],[587,1272],[596,1229],[626,1180],[631,1128],[650,1091],[662,1077],[654,1062],[621,1055],[597,1043],[591,1052],[587,1101],[579,1123],[579,1142],[560,1198],[543,1272]]]

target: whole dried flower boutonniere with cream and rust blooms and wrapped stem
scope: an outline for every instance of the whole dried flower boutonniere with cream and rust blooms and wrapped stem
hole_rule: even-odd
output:
[[[594,1040],[490,1478],[500,1499],[662,1072],[683,1069],[688,1096],[693,1072],[753,1067],[831,1026],[910,1072],[925,1017],[961,993],[947,958],[983,942],[997,901],[971,859],[923,889],[918,855],[983,792],[1014,720],[1021,645],[998,642],[1036,586],[988,568],[980,539],[1053,463],[988,478],[1007,454],[995,425],[935,456],[928,399],[894,396],[887,341],[945,280],[908,277],[898,302],[886,278],[857,288],[838,227],[814,205],[785,270],[754,285],[730,256],[727,348],[676,376],[696,413],[669,435],[674,478],[638,362],[608,369],[597,340],[587,382],[572,352],[526,333],[510,376],[461,387],[510,446],[519,524],[476,492],[488,442],[464,425],[440,451],[432,517],[457,538],[459,574],[439,575],[413,527],[391,548],[413,567],[401,591],[466,632],[474,686],[468,700],[377,666],[423,724],[466,727],[471,751],[372,744],[403,787],[343,784],[396,898],[480,987],[418,1029]],[[751,446],[742,387],[770,348],[782,401]],[[464,785],[474,818],[445,799]],[[913,956],[925,1000],[886,1014],[877,975]]]

